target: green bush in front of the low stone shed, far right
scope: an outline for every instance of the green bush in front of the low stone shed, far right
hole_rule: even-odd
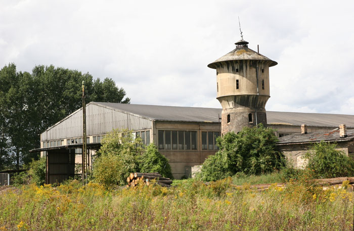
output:
[[[336,150],[336,144],[321,142],[314,144],[305,155],[307,168],[314,171],[314,177],[332,178],[354,175],[354,160],[342,151]]]

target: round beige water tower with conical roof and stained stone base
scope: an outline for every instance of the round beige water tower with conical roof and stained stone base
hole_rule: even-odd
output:
[[[216,69],[216,99],[223,107],[222,134],[262,123],[270,96],[269,67],[278,63],[248,48],[241,39],[236,49],[210,63]]]

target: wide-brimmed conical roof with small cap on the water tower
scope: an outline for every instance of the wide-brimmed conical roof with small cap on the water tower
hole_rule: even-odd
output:
[[[257,52],[253,51],[252,49],[248,48],[248,42],[241,39],[236,44],[236,49],[229,52],[225,56],[215,60],[214,62],[210,63],[208,67],[216,69],[216,64],[225,61],[233,61],[233,60],[264,60],[270,61],[270,67],[277,65],[278,63],[261,55]]]

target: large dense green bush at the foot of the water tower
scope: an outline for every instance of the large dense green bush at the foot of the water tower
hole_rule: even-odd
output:
[[[274,130],[262,124],[245,127],[237,134],[229,132],[216,139],[220,150],[205,160],[199,176],[209,181],[238,172],[258,175],[281,169],[284,156],[276,151],[277,141]]]

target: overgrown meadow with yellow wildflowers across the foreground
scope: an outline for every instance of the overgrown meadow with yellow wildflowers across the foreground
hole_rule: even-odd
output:
[[[346,182],[347,183],[347,182]],[[71,181],[0,188],[0,230],[352,230],[353,193],[311,181],[237,190],[232,179],[107,191]]]

